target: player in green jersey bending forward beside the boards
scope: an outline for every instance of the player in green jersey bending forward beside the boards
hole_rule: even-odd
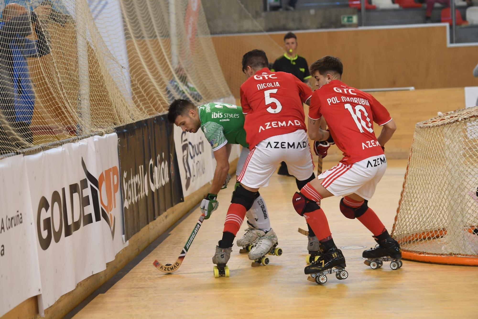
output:
[[[196,133],[201,129],[212,147],[217,162],[216,171],[211,189],[200,206],[201,212],[206,215],[205,219],[208,219],[219,205],[217,193],[227,187],[231,178],[228,174],[231,144],[242,145],[236,175],[239,176],[249,155],[242,108],[227,103],[208,103],[196,107],[186,99],[176,99],[169,106],[168,121],[179,126],[183,132]],[[248,228],[237,241],[238,246],[242,247],[248,247],[261,233],[271,230],[267,207],[259,192],[246,217]]]

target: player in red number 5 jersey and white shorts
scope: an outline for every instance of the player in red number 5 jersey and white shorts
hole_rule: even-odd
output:
[[[287,163],[299,189],[315,179],[305,127],[303,103],[312,90],[295,76],[271,72],[264,51],[252,50],[242,59],[248,79],[241,85],[240,97],[245,115],[244,129],[250,153],[238,176],[224,223],[222,240],[216,247],[213,263],[222,272],[229,260],[232,242],[260,187],[267,186],[276,166]],[[267,264],[265,254],[280,254],[274,231],[256,230],[258,239],[249,252],[253,265]],[[317,241],[318,250],[318,241]]]

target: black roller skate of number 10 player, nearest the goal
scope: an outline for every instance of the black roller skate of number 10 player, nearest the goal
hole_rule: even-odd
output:
[[[390,268],[397,270],[402,267],[402,250],[399,243],[389,237],[381,242],[375,240],[375,248],[367,249],[362,253],[362,257],[367,258],[363,263],[372,269],[380,268],[383,262],[391,262]]]

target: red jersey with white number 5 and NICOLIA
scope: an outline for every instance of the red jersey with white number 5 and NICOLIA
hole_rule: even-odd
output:
[[[271,136],[307,131],[302,103],[311,95],[309,86],[293,74],[267,67],[242,83],[240,102],[247,114],[244,130],[249,148]]]

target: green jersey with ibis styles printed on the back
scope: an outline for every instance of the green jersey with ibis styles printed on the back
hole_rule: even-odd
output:
[[[212,150],[216,151],[227,143],[241,144],[249,148],[244,131],[242,108],[227,103],[208,103],[198,107],[201,130]]]

